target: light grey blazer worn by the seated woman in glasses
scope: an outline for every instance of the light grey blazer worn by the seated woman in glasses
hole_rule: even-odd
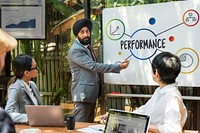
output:
[[[33,81],[30,81],[29,84],[38,105],[41,105],[42,101],[36,84]],[[28,122],[25,105],[34,105],[34,103],[25,83],[21,79],[17,79],[15,83],[8,88],[8,100],[5,107],[6,112],[8,112],[15,123]]]

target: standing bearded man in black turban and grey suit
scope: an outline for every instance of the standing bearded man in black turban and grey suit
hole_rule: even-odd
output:
[[[99,73],[120,73],[129,62],[103,64],[96,62],[90,48],[92,21],[80,19],[73,26],[77,37],[68,52],[72,73],[72,100],[75,103],[74,116],[79,122],[93,122],[96,100],[99,94]]]

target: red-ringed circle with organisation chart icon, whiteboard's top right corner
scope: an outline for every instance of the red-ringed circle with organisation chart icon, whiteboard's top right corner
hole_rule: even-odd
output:
[[[199,22],[199,13],[196,10],[187,10],[183,14],[183,23],[187,26],[195,26]]]

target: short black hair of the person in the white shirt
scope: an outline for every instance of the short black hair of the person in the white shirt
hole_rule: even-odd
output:
[[[181,71],[181,61],[178,56],[172,53],[162,52],[153,59],[152,69],[154,74],[156,69],[158,70],[161,82],[165,84],[175,83]]]

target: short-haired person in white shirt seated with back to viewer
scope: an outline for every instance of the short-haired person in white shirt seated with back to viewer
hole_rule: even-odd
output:
[[[181,70],[180,59],[162,52],[153,59],[152,70],[152,78],[159,87],[151,99],[134,112],[151,116],[150,131],[181,133],[187,110],[175,81]]]

